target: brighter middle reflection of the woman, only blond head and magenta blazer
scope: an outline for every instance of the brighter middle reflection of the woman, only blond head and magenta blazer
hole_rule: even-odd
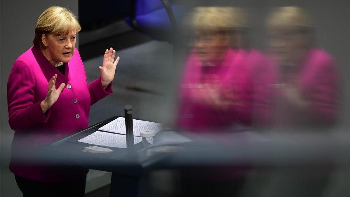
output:
[[[250,124],[251,79],[240,53],[229,48],[235,9],[196,8],[192,16],[194,49],[180,89],[177,126],[213,130]]]

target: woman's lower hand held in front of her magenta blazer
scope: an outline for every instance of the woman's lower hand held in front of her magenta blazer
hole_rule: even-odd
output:
[[[40,107],[43,111],[43,113],[46,113],[46,111],[57,101],[59,94],[61,94],[61,91],[64,88],[64,83],[61,83],[59,87],[56,89],[56,79],[57,74],[53,76],[49,81],[49,88],[47,90],[47,95],[45,97],[45,100],[43,100],[40,103]]]

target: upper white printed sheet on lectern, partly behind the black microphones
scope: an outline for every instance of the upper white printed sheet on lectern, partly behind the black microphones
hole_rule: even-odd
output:
[[[140,131],[155,131],[158,133],[162,128],[160,123],[133,119],[134,136],[140,136]],[[109,131],[118,134],[126,134],[125,118],[118,117],[116,120],[104,125],[98,130]]]

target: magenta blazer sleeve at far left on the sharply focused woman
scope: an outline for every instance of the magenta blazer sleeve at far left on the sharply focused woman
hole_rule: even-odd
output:
[[[39,102],[34,102],[35,79],[30,67],[16,60],[7,81],[8,123],[15,131],[30,130],[47,122],[50,109],[44,114]]]

